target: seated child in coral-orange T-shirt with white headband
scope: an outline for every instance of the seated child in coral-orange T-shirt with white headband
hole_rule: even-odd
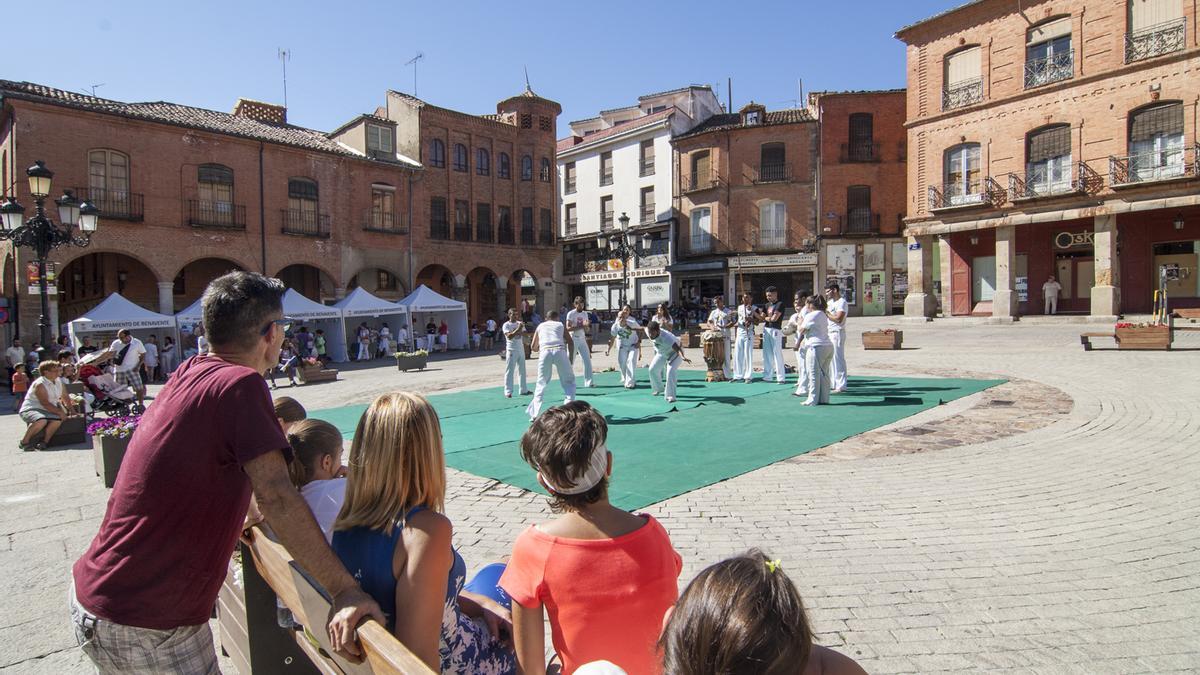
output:
[[[678,597],[683,560],[653,516],[608,503],[607,435],[595,408],[572,401],[542,412],[521,438],[551,508],[564,514],[526,530],[500,578],[527,675],[546,671],[544,614],[565,674],[601,659],[660,671],[654,643]]]

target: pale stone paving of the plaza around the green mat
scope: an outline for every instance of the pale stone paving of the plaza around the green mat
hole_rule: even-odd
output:
[[[902,328],[907,348],[863,352],[859,330],[884,325]],[[900,434],[898,454],[886,437],[851,438],[647,508],[683,554],[683,583],[763,548],[800,586],[821,643],[871,673],[1194,671],[1200,335],[1171,353],[1085,353],[1084,329],[852,319],[853,372],[1019,378],[1030,383],[1014,396],[1021,412],[997,413],[990,432],[988,408],[970,407],[985,402],[977,395],[912,418],[910,429],[938,430],[926,446],[924,432]],[[280,393],[316,408],[401,387],[494,384],[503,372],[496,356],[431,366]],[[804,432],[775,422],[780,443]],[[20,429],[0,417],[0,673],[83,673],[64,596],[108,490],[90,450],[19,453]],[[472,569],[548,515],[535,495],[458,472],[446,507]]]

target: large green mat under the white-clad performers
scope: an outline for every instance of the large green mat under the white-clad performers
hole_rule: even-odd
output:
[[[608,420],[613,453],[612,502],[625,509],[710,485],[769,464],[836,443],[920,411],[1003,383],[1003,380],[851,377],[845,394],[828,406],[806,407],[788,384],[704,382],[702,371],[679,374],[678,400],[652,396],[646,370],[640,387],[620,386],[616,372],[596,374],[596,387],[580,399]],[[552,383],[546,405],[562,402]],[[529,428],[530,396],[504,398],[500,387],[434,394],[442,418],[446,465],[541,492],[533,470],[521,460],[518,442]],[[354,435],[365,405],[316,411],[343,435]]]

